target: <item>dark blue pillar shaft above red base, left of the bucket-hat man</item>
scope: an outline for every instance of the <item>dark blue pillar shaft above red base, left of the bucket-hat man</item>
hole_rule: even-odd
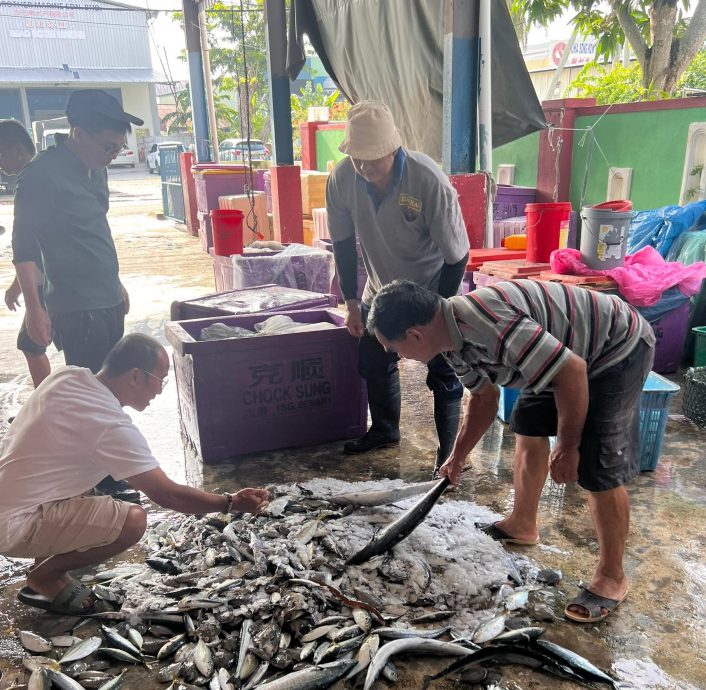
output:
[[[265,21],[275,165],[294,165],[292,109],[287,76],[287,15],[284,0],[265,0]]]

